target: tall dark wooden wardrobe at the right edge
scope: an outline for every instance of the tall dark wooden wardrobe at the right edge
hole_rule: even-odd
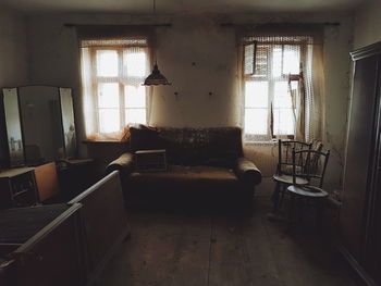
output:
[[[381,285],[381,42],[351,55],[354,80],[341,250],[368,285]]]

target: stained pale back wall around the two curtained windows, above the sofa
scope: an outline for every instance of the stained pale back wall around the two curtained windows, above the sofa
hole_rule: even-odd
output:
[[[324,30],[327,90],[327,147],[333,151],[327,182],[336,188],[341,181],[349,95],[349,55],[353,23],[349,14],[236,15],[214,16],[128,16],[128,15],[52,15],[28,18],[30,80],[35,84],[72,86],[77,130],[83,139],[82,105],[78,99],[78,53],[74,28],[63,23],[130,24],[171,22],[171,28],[157,28],[158,62],[172,86],[156,87],[151,123],[164,126],[226,126],[239,123],[241,98],[237,91],[237,53],[235,32],[220,22],[341,22]],[[175,97],[174,92],[179,92]],[[212,96],[209,96],[209,91]],[[259,151],[260,150],[260,151]],[[248,146],[247,156],[270,176],[273,169],[272,146]]]

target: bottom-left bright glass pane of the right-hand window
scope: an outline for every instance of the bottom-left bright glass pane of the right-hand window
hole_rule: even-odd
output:
[[[245,133],[266,135],[268,109],[245,109]]]

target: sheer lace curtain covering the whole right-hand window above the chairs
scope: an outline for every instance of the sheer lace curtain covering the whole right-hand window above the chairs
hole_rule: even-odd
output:
[[[321,29],[256,27],[239,43],[246,140],[323,139]]]

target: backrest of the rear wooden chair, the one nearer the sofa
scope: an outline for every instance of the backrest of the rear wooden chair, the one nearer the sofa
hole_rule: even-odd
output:
[[[292,175],[293,174],[293,150],[310,150],[311,144],[297,140],[281,140],[278,141],[278,167],[276,174]],[[303,154],[295,158],[296,169],[304,169],[305,160]]]

